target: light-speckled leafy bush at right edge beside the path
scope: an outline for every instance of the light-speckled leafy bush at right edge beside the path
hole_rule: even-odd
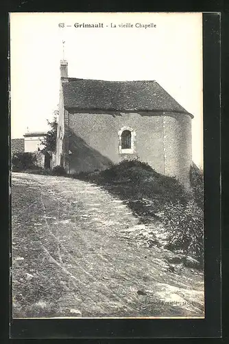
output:
[[[203,220],[203,211],[193,200],[186,205],[180,202],[165,205],[163,223],[168,233],[167,248],[182,250],[202,261],[204,255]]]

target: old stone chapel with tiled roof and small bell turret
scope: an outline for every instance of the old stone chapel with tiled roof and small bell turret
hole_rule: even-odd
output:
[[[139,159],[189,183],[191,119],[155,80],[69,78],[60,61],[56,161],[69,173]]]

